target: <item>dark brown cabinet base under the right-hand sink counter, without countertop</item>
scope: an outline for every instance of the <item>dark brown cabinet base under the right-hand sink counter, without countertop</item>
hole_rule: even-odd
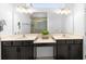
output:
[[[57,40],[57,60],[83,60],[83,40]]]

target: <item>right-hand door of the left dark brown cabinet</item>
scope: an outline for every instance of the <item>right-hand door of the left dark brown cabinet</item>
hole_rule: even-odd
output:
[[[20,47],[20,59],[21,60],[32,60],[34,59],[34,50],[33,50],[33,47],[29,46],[29,47]]]

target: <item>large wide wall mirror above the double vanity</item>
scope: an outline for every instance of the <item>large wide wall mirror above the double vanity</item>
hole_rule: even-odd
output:
[[[16,4],[15,4],[16,5]],[[22,31],[21,34],[39,34],[42,29],[48,29],[50,34],[62,34],[70,33],[73,34],[73,4],[60,4],[60,3],[30,3],[30,4],[17,4],[16,5],[16,18],[21,20]],[[28,16],[24,16],[28,15]],[[24,21],[22,16],[25,17]],[[67,27],[67,22],[71,22],[71,25]],[[23,23],[28,23],[28,26],[23,25]],[[15,26],[14,26],[15,28]],[[26,31],[24,30],[26,29]],[[25,33],[24,33],[24,31]],[[16,31],[17,34],[17,31]]]

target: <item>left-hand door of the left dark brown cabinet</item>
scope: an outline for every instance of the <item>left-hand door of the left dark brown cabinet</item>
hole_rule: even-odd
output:
[[[17,60],[16,47],[3,47],[3,60]]]

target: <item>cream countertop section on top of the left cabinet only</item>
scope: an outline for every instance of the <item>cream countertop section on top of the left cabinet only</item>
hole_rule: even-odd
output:
[[[26,35],[2,35],[1,41],[17,41],[17,40],[35,40],[38,34],[26,34]]]

